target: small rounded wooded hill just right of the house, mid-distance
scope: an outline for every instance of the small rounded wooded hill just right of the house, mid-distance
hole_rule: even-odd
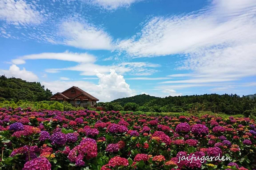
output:
[[[155,96],[149,96],[147,94],[140,94],[132,97],[126,97],[126,98],[121,98],[121,99],[116,99],[111,101],[112,103],[119,103],[121,106],[124,106],[125,103],[133,102],[138,104],[139,106],[142,106],[146,102],[149,102],[154,99],[161,99],[160,97],[155,97]]]

